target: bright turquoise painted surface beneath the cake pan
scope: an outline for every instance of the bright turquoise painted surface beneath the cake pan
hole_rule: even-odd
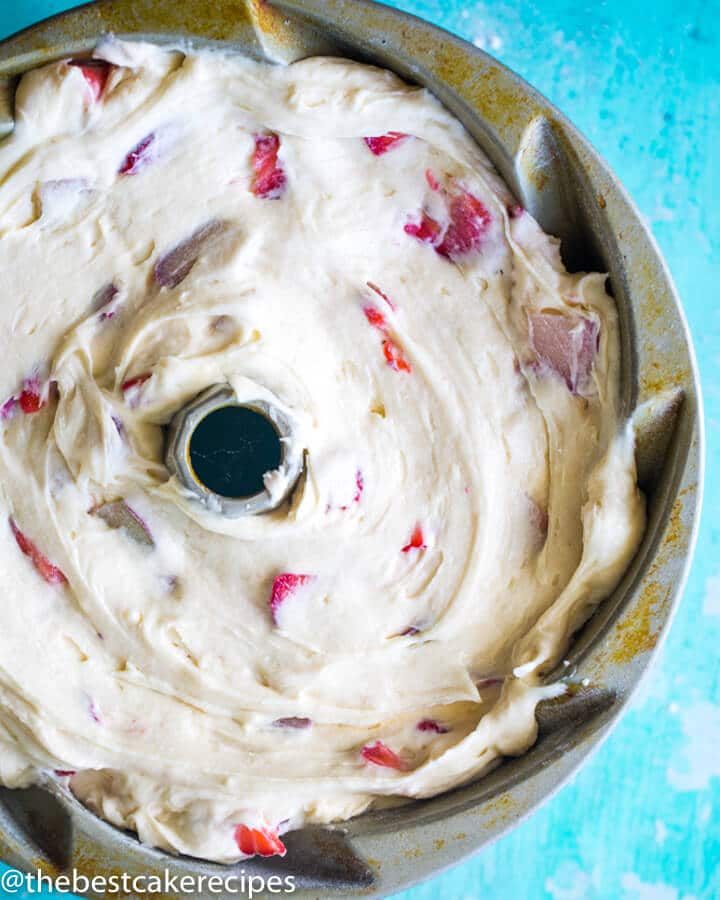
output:
[[[0,36],[73,5],[1,0]],[[523,75],[575,122],[624,182],[652,225],[690,320],[705,391],[709,473],[698,552],[679,614],[660,662],[619,727],[529,821],[479,856],[398,896],[716,900],[720,0],[391,5],[443,25]]]

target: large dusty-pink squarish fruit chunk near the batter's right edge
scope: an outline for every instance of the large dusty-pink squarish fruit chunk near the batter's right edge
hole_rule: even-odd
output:
[[[573,394],[590,377],[600,344],[600,326],[584,316],[531,313],[530,343],[537,364],[559,375]]]

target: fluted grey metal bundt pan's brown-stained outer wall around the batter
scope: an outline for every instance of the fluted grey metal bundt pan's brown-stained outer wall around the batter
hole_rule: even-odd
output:
[[[610,275],[648,528],[622,583],[569,651],[562,674],[590,687],[541,706],[530,752],[431,800],[295,832],[284,859],[235,867],[143,847],[56,787],[0,792],[0,856],[20,868],[292,874],[297,897],[397,891],[496,839],[557,791],[617,722],[667,632],[695,541],[703,466],[700,386],[680,303],[617,178],[557,109],[482,51],[369,0],[99,0],[0,43],[0,127],[12,129],[15,76],[87,52],[110,31],[224,42],[278,61],[326,53],[394,69],[427,86],[464,123],[522,204],[563,239],[569,268]]]

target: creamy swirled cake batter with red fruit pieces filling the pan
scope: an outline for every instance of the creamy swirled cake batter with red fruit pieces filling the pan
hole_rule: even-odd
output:
[[[233,861],[527,750],[644,527],[605,277],[341,59],[105,41],[0,173],[0,780]],[[218,384],[295,425],[271,512],[165,466]]]

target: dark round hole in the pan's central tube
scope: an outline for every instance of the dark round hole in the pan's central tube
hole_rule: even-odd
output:
[[[264,490],[263,475],[282,461],[275,426],[248,406],[222,406],[205,416],[192,433],[189,452],[201,484],[238,499]]]

